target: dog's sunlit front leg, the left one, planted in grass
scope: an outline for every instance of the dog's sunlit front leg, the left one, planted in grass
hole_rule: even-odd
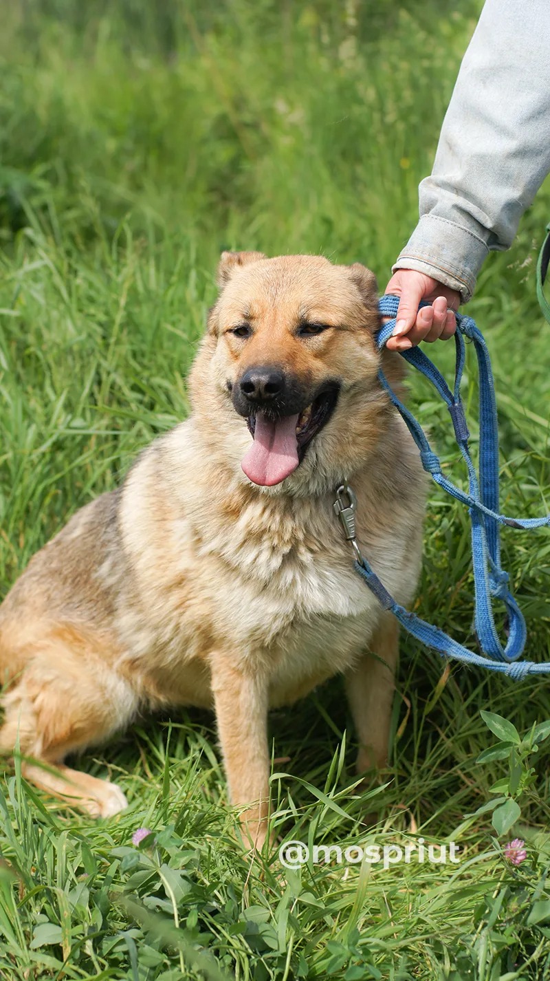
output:
[[[241,815],[246,837],[260,849],[269,807],[268,681],[234,667],[228,654],[211,659],[212,690],[229,798],[249,806]]]

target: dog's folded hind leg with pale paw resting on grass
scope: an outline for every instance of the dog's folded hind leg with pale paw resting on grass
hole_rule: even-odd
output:
[[[104,638],[68,624],[39,633],[3,699],[0,751],[13,753],[19,741],[25,779],[94,816],[116,814],[126,806],[119,787],[62,764],[125,726],[137,697],[105,656]]]

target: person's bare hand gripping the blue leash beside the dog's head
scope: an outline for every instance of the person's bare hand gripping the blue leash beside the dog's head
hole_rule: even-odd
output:
[[[460,293],[413,269],[398,269],[385,287],[399,296],[397,323],[386,343],[389,351],[406,351],[426,340],[448,340],[457,329],[453,310],[458,310]],[[433,300],[419,310],[421,300]],[[450,310],[448,308],[451,308]],[[387,318],[389,319],[389,318]]]

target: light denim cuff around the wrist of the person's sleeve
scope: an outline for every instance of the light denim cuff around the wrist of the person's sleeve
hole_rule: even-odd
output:
[[[414,269],[456,289],[463,303],[471,299],[475,280],[489,249],[470,229],[447,218],[423,215],[392,272]]]

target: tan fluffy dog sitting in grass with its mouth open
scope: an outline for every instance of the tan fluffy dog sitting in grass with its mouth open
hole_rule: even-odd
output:
[[[372,273],[224,253],[219,283],[190,418],[78,511],[0,607],[0,747],[19,736],[49,765],[27,760],[28,780],[107,816],[123,792],[65,756],[142,707],[214,706],[230,799],[254,803],[261,842],[271,706],[343,672],[359,769],[385,762],[397,626],[354,570],[332,504],[348,480],[360,546],[408,603],[425,478],[376,379]],[[399,355],[383,357],[398,384]]]

